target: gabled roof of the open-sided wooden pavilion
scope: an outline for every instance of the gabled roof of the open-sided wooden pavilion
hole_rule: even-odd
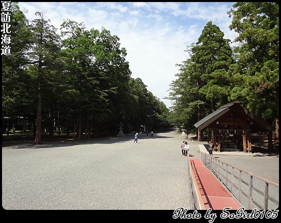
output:
[[[268,124],[263,119],[244,108],[240,104],[240,101],[234,101],[219,107],[215,112],[207,115],[206,117],[195,123],[194,126],[200,131],[205,130],[221,121],[223,118],[230,116],[231,114],[239,117],[239,120],[242,120],[249,125],[255,125],[258,130],[261,130],[263,132],[272,132],[275,130],[272,125]],[[237,125],[241,124],[237,123]]]

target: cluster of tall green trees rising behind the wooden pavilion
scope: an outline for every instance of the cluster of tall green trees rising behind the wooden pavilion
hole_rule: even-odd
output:
[[[194,123],[236,100],[269,124],[278,123],[279,6],[235,3],[227,13],[233,17],[229,28],[237,33],[236,45],[231,47],[209,21],[198,41],[187,46],[188,59],[177,64],[168,98],[173,101],[171,121],[179,128],[195,132]]]

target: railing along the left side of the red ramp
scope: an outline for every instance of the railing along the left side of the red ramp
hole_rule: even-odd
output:
[[[205,210],[205,205],[202,199],[202,196],[200,194],[198,185],[196,183],[196,178],[193,173],[192,165],[189,159],[189,154],[187,155],[188,157],[188,163],[189,166],[187,168],[189,172],[189,205],[191,210]]]

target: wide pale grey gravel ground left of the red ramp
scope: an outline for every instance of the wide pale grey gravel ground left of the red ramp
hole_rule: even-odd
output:
[[[4,209],[188,208],[177,131],[2,148]],[[196,146],[197,148],[198,146]],[[199,153],[199,151],[198,151]]]

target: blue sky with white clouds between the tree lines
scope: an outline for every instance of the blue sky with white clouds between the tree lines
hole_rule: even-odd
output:
[[[86,29],[117,35],[120,46],[127,50],[131,77],[143,80],[147,89],[167,107],[171,101],[169,84],[176,80],[178,67],[187,59],[186,46],[196,42],[208,21],[220,27],[225,38],[234,41],[228,17],[234,2],[20,2],[19,6],[30,20],[36,12],[58,29],[63,19],[84,22]]]

